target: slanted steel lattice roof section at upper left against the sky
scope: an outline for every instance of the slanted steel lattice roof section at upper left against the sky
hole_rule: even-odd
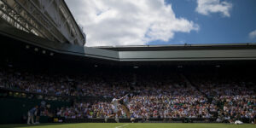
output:
[[[62,44],[85,44],[86,35],[64,0],[8,0],[0,4],[0,18],[10,26]]]

